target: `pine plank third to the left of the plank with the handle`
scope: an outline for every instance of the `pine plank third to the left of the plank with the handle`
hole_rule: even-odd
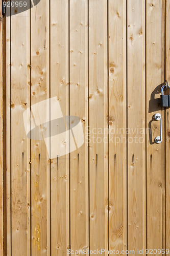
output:
[[[108,249],[107,62],[107,1],[89,0],[90,250]]]

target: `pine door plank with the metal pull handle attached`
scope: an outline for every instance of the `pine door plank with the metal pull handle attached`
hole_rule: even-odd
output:
[[[162,1],[147,1],[147,110],[152,92],[162,81]],[[164,69],[163,69],[164,70]],[[158,95],[159,97],[159,95]],[[156,98],[156,97],[155,97]],[[157,108],[157,104],[153,105]],[[164,111],[147,111],[147,125],[152,132],[147,133],[147,247],[162,248],[162,166],[163,143],[156,144],[154,138],[160,134],[160,126],[152,121],[155,113]],[[155,110],[155,111],[154,111]],[[164,131],[164,130],[163,130]],[[163,133],[164,134],[164,133]]]

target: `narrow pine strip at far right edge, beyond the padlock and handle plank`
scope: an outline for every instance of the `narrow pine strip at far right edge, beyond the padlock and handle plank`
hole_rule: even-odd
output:
[[[165,74],[166,74],[166,80],[168,81],[168,84],[170,85],[170,1],[166,2],[166,52],[165,52]],[[166,133],[165,133],[165,138],[166,138],[166,143],[165,143],[165,148],[166,148],[166,168],[165,168],[165,173],[166,173],[166,181],[165,181],[165,186],[166,186],[166,248],[170,248],[170,174],[169,174],[169,166],[170,166],[170,112],[169,109],[166,110],[165,114],[165,128],[166,128]]]

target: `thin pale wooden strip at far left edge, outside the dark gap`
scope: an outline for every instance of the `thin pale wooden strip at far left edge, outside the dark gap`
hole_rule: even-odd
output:
[[[4,255],[4,182],[3,182],[3,172],[4,172],[4,162],[3,162],[3,15],[2,15],[2,5],[0,7],[0,86],[1,86],[1,98],[0,98],[0,254]]]

